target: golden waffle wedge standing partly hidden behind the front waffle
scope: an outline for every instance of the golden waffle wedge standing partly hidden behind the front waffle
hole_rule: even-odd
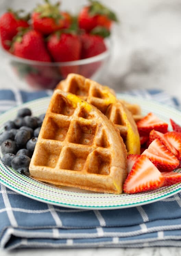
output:
[[[94,105],[118,128],[124,140],[128,154],[140,154],[140,138],[133,115],[140,115],[141,109],[136,104],[118,100],[114,91],[81,75],[69,74],[57,88],[71,92]],[[131,112],[126,108],[129,107]],[[112,112],[112,113],[110,113]]]

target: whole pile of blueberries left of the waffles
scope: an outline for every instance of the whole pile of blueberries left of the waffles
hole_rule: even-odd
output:
[[[21,174],[28,171],[44,117],[45,114],[32,116],[30,109],[23,108],[17,112],[14,121],[4,124],[0,145],[5,165]]]

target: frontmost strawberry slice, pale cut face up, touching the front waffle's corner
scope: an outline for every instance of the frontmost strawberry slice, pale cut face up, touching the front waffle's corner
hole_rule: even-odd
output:
[[[140,156],[124,182],[123,191],[133,194],[154,190],[160,188],[163,182],[164,177],[156,166],[146,156]]]

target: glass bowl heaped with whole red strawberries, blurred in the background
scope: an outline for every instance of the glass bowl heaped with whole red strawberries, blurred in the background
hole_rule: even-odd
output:
[[[27,15],[8,10],[0,17],[3,52],[14,73],[33,88],[54,89],[69,73],[98,77],[111,52],[116,15],[98,1],[73,16],[49,0]]]

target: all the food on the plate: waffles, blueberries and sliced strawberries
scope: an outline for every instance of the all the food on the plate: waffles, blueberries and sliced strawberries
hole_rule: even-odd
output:
[[[57,88],[46,114],[34,117],[23,108],[4,123],[5,165],[58,187],[104,193],[132,194],[181,182],[179,124],[170,119],[168,131],[152,112],[135,123],[139,106],[80,75],[69,74]]]

